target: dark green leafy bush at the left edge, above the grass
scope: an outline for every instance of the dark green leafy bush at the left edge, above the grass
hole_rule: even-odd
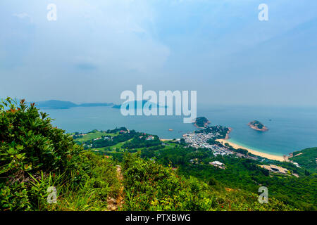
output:
[[[51,125],[46,113],[34,103],[20,105],[10,98],[0,104],[0,174],[11,181],[23,181],[28,174],[71,167],[71,158],[80,153],[64,131]]]

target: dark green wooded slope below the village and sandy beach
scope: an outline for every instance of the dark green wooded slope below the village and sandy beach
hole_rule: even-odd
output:
[[[292,175],[269,174],[266,169],[258,166],[263,162],[235,157],[215,157],[206,149],[196,150],[178,146],[152,151],[151,158],[162,165],[177,167],[179,174],[186,177],[195,176],[206,182],[215,179],[225,187],[241,188],[252,193],[256,193],[259,186],[263,185],[268,187],[271,196],[282,200],[285,204],[302,210],[317,209],[317,174],[306,174],[304,169],[292,163],[264,161],[266,164],[286,167],[290,169],[290,173],[299,174],[299,178]],[[226,169],[209,165],[209,162],[215,160],[223,162]]]

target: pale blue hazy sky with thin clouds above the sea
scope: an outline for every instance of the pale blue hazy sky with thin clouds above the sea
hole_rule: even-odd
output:
[[[1,0],[0,29],[2,98],[121,103],[142,84],[204,104],[317,105],[315,0]]]

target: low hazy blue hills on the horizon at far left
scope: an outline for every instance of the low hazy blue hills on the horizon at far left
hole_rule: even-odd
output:
[[[39,101],[36,102],[38,108],[50,108],[50,109],[66,109],[74,107],[97,107],[97,106],[112,106],[113,103],[82,103],[75,104],[70,101],[58,101],[58,100],[49,100],[49,101]]]

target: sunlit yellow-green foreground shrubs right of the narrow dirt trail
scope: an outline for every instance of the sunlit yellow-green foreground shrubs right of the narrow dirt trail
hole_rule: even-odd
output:
[[[225,190],[193,176],[186,179],[171,167],[138,155],[125,155],[123,170],[123,210],[295,210],[275,198],[270,198],[270,204],[260,204],[254,193]]]

